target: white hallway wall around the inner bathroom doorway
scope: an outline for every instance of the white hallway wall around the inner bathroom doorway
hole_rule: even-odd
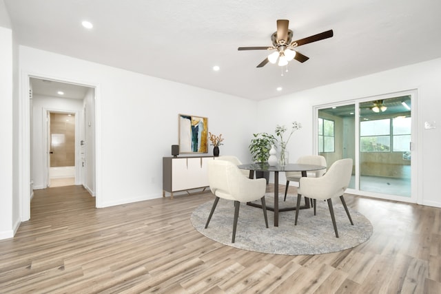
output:
[[[45,142],[45,114],[43,109],[61,112],[83,112],[83,101],[79,99],[68,99],[51,96],[32,96],[32,179],[34,189],[45,189],[47,182],[47,158]],[[81,125],[75,127],[81,128]],[[79,146],[76,146],[79,148]],[[78,161],[78,160],[76,160]]]

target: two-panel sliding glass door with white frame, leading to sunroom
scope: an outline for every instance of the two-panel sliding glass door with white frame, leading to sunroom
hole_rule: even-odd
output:
[[[325,156],[328,167],[352,158],[349,188],[354,193],[416,202],[411,150],[414,96],[409,92],[316,107],[318,154]]]

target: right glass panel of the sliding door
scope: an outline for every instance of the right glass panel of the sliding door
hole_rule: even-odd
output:
[[[360,190],[411,197],[411,97],[360,103]]]

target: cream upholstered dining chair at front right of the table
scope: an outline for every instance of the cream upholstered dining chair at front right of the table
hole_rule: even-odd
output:
[[[316,200],[327,200],[329,212],[331,213],[332,224],[334,225],[334,231],[336,232],[336,237],[338,238],[338,231],[336,225],[336,218],[334,216],[334,207],[332,207],[331,198],[340,197],[343,207],[349,222],[353,225],[351,215],[347,209],[345,198],[343,198],[343,193],[345,193],[349,181],[352,175],[352,159],[345,158],[334,162],[327,173],[320,178],[300,178],[300,187],[298,188],[297,196],[297,207],[296,207],[296,220],[294,225],[297,225],[298,212],[300,210],[300,200],[302,196],[314,199],[314,216],[316,215]]]

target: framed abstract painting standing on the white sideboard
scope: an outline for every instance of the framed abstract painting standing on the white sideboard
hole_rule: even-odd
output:
[[[179,152],[208,153],[208,118],[179,114]]]

